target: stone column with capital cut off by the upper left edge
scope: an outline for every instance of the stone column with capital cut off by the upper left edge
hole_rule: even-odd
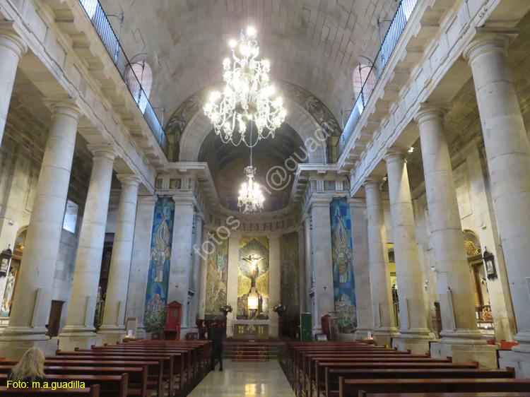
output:
[[[13,30],[0,29],[0,143],[6,128],[18,61],[27,51],[28,46]]]

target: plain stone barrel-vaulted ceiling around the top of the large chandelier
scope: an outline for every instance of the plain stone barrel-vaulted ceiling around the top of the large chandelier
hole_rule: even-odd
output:
[[[130,58],[148,54],[151,102],[168,114],[222,81],[228,41],[247,26],[245,0],[100,2],[107,14],[124,12],[122,46]],[[389,18],[396,6],[394,0],[250,0],[249,13],[271,78],[299,85],[340,119],[341,109],[351,108],[359,57],[377,53],[377,16]]]

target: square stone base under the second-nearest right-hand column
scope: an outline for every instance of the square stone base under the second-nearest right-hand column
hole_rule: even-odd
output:
[[[432,358],[452,357],[453,362],[476,361],[481,368],[497,368],[497,346],[485,345],[485,340],[476,342],[453,344],[440,340],[431,343],[430,355]]]

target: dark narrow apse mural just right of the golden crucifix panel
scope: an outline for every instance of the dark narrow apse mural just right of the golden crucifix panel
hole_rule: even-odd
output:
[[[300,276],[298,260],[298,233],[292,232],[280,238],[281,304],[287,308],[285,316],[300,314]]]

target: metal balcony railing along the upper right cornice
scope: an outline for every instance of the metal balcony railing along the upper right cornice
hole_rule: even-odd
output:
[[[355,129],[355,126],[357,126],[360,116],[363,114],[363,110],[365,109],[366,104],[370,100],[370,96],[372,96],[372,93],[375,90],[377,81],[379,81],[379,77],[381,77],[384,67],[387,66],[390,55],[394,51],[399,37],[401,37],[401,33],[405,29],[405,26],[408,22],[408,18],[411,17],[412,11],[414,10],[414,7],[416,7],[417,3],[418,0],[400,1],[394,18],[391,19],[387,34],[384,36],[381,48],[379,48],[379,52],[377,52],[377,57],[370,68],[370,72],[367,74],[365,82],[363,83],[363,88],[361,88],[357,100],[355,100],[355,105],[353,105],[350,117],[348,117],[348,121],[344,126],[342,134],[340,138],[338,138],[336,148],[329,152],[334,154],[333,158],[335,160],[341,156],[342,151],[346,147],[348,139],[350,138],[351,134],[353,134],[353,130]]]

